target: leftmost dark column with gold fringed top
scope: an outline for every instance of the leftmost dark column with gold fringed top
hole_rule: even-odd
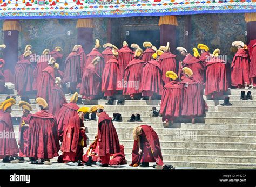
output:
[[[19,20],[4,20],[3,31],[6,45],[3,52],[5,82],[13,82],[14,67],[18,62],[19,32],[21,32]]]

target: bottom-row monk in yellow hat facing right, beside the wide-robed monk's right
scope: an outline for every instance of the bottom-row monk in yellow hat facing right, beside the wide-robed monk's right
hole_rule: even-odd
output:
[[[59,156],[58,162],[82,161],[83,148],[87,147],[84,127],[84,115],[89,111],[88,107],[81,107],[77,114],[69,119],[65,127],[62,142],[63,154]]]

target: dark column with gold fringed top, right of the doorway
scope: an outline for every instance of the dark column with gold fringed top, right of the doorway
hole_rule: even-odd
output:
[[[172,53],[176,53],[176,16],[161,16],[158,25],[160,26],[160,45],[166,46],[170,42]]]

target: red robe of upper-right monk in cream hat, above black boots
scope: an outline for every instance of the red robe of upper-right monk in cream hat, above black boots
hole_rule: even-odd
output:
[[[244,49],[238,49],[231,64],[231,85],[242,88],[250,85],[248,53]]]

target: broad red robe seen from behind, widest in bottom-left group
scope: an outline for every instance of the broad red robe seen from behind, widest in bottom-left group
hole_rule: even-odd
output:
[[[31,115],[28,132],[27,156],[52,159],[60,150],[56,118],[47,110]]]

